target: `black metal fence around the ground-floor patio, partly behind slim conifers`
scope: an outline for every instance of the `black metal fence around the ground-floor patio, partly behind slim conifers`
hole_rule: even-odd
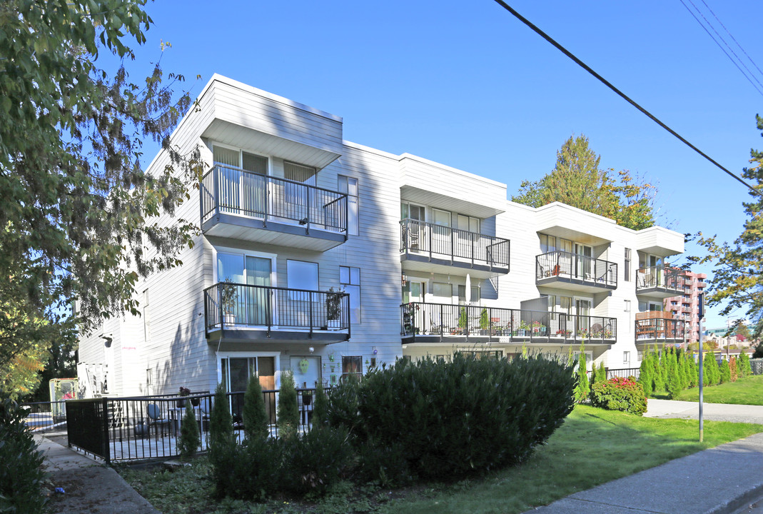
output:
[[[262,391],[269,430],[278,436],[278,391]],[[237,441],[243,435],[243,391],[226,394],[226,406],[233,421]],[[310,429],[313,417],[314,389],[298,389],[299,430]],[[111,461],[139,461],[179,455],[177,440],[185,422],[186,402],[192,410],[199,432],[199,451],[209,448],[209,425],[214,394],[188,397],[93,398],[69,400],[66,405],[69,445]]]

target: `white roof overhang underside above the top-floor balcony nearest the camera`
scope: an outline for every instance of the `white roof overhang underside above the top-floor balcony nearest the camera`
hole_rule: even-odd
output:
[[[298,143],[223,120],[214,120],[201,137],[266,156],[282,157],[317,169],[324,169],[341,156],[332,149]]]

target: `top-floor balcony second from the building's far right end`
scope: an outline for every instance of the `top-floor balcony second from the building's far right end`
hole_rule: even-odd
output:
[[[617,264],[576,253],[536,255],[535,270],[538,285],[591,293],[617,288]]]

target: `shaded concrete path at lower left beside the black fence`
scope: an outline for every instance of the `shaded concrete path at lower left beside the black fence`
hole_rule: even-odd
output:
[[[159,514],[119,474],[92,458],[71,448],[59,445],[41,435],[34,435],[38,449],[43,451],[43,467],[53,487],[64,493],[54,493],[48,506],[54,514]]]

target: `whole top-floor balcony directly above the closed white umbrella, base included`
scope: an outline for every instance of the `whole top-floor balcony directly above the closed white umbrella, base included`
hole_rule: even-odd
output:
[[[452,274],[461,269],[475,278],[509,272],[508,239],[408,218],[400,225],[406,270]]]

